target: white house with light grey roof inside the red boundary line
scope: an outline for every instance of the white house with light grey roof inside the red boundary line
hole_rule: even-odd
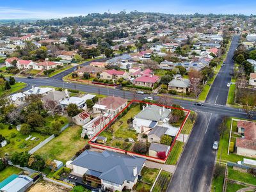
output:
[[[164,107],[157,106],[155,104],[148,105],[134,116],[132,122],[132,127],[138,133],[150,132],[156,125],[166,125],[168,127],[168,122],[171,116],[171,109],[166,109]]]

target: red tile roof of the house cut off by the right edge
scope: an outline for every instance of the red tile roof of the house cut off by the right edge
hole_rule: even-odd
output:
[[[244,138],[236,138],[236,147],[256,150],[256,124],[255,122],[239,121],[237,127],[244,128]]]

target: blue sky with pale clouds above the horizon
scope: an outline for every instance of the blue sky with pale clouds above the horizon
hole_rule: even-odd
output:
[[[256,14],[255,0],[0,0],[0,19],[52,19],[88,13]]]

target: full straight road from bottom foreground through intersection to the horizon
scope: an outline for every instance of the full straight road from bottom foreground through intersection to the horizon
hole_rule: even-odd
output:
[[[195,128],[191,132],[188,143],[184,148],[168,191],[211,190],[211,178],[216,157],[216,151],[212,150],[212,143],[220,139],[216,128],[220,125],[223,116],[243,116],[241,109],[236,109],[236,114],[234,115],[231,114],[234,113],[234,109],[225,106],[228,96],[227,83],[231,81],[229,72],[234,68],[232,58],[238,42],[239,36],[236,35],[232,39],[225,65],[216,76],[205,100],[203,108],[207,108],[209,105],[211,109],[204,110],[204,113],[198,113]],[[222,113],[225,110],[227,110],[227,113]]]

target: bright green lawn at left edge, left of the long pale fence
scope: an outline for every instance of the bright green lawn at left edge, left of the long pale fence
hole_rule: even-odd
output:
[[[29,135],[22,135],[19,131],[17,131],[16,127],[9,130],[8,125],[4,125],[4,129],[0,129],[1,134],[7,139],[10,140],[10,143],[0,150],[0,157],[3,157],[5,153],[13,154],[13,152],[24,152],[26,150],[31,150],[31,148],[38,145],[40,142],[44,141],[47,135],[39,134],[37,132],[31,132],[29,135],[32,137],[36,137],[38,140],[28,140]],[[11,134],[15,133],[16,136],[14,138],[11,137]]]

